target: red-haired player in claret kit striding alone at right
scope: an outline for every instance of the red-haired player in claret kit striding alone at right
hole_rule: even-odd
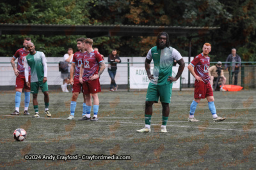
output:
[[[196,106],[201,101],[201,99],[205,99],[206,97],[209,110],[212,113],[213,121],[220,122],[225,120],[226,118],[218,117],[214,105],[214,97],[208,73],[208,69],[210,66],[210,57],[208,57],[208,54],[211,52],[211,44],[205,43],[202,50],[203,52],[197,55],[195,59],[193,59],[188,65],[190,73],[193,74],[196,79],[194,100],[190,105],[188,121],[199,122],[199,120],[196,120],[196,118],[194,117]]]

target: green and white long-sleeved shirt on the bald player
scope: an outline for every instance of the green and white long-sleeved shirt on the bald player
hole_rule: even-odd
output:
[[[24,59],[25,78],[28,81],[28,66],[31,68],[31,83],[43,81],[44,77],[47,77],[47,60],[43,52],[38,52],[34,55],[30,53]]]

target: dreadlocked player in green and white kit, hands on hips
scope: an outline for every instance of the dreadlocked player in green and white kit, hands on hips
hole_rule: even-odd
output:
[[[150,73],[150,62],[154,60],[153,74]],[[175,77],[172,77],[172,66],[177,61],[179,70]],[[180,53],[170,46],[169,35],[166,32],[159,32],[157,35],[156,46],[148,51],[145,60],[145,69],[147,71],[148,84],[146,106],[145,106],[145,127],[137,132],[151,132],[150,122],[153,113],[153,104],[160,101],[162,103],[163,115],[161,132],[166,131],[170,108],[169,103],[172,97],[172,82],[177,81],[185,67],[184,60]]]

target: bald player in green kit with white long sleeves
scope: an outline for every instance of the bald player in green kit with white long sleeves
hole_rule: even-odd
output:
[[[47,60],[43,52],[35,50],[35,45],[33,43],[28,43],[28,50],[29,54],[24,59],[24,67],[26,84],[28,87],[31,86],[31,94],[33,94],[33,106],[35,109],[35,115],[33,117],[40,117],[37,102],[39,87],[44,93],[45,114],[47,117],[51,117],[51,113],[49,112],[49,94],[47,85]],[[31,68],[31,85],[28,81],[28,66]]]

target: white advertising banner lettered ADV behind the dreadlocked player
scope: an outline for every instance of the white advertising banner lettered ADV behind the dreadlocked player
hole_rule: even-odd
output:
[[[172,76],[175,77],[178,67],[172,67]],[[153,69],[151,69],[151,73]],[[145,67],[130,67],[130,89],[147,89],[149,79]],[[180,80],[173,82],[173,89],[180,89]]]

